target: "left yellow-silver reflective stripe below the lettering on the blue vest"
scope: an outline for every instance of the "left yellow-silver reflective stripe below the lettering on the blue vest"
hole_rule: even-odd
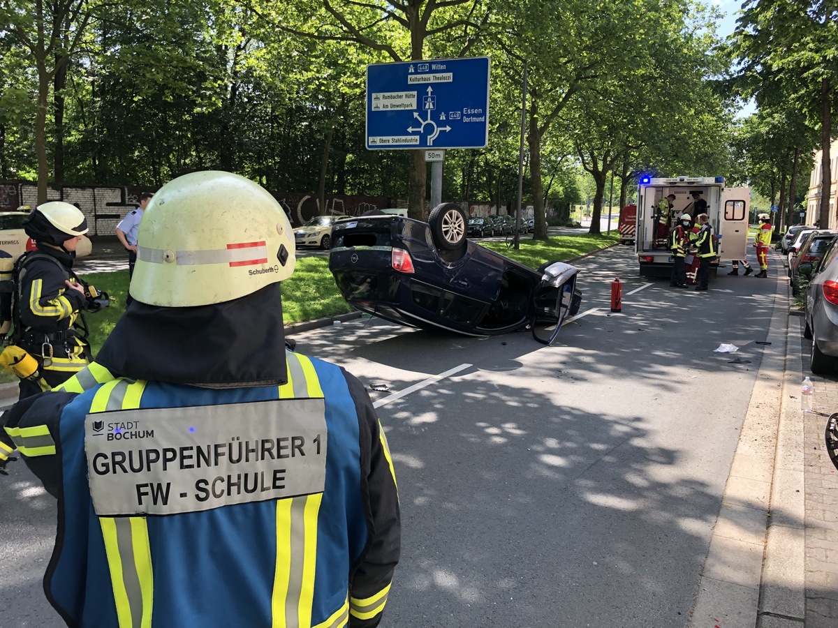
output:
[[[100,517],[119,628],[151,628],[154,583],[145,517]]]

